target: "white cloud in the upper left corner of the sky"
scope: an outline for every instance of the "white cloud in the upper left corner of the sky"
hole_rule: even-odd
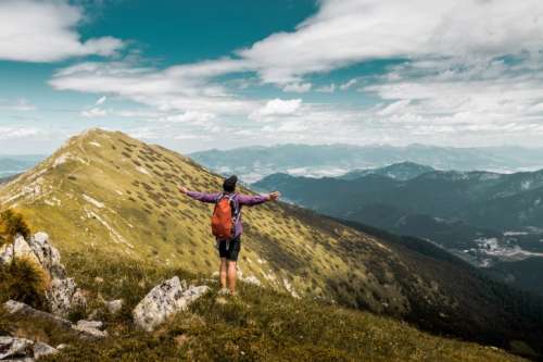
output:
[[[75,27],[81,8],[64,0],[0,1],[0,60],[54,62],[72,57],[110,57],[124,47],[114,37],[83,41]]]

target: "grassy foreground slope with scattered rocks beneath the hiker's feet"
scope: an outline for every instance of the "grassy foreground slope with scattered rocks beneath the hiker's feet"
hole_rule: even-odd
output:
[[[217,297],[214,287],[189,311],[152,334],[142,333],[131,324],[130,311],[146,292],[173,275],[194,275],[153,263],[112,261],[101,253],[71,254],[67,269],[91,300],[100,295],[123,298],[126,304],[118,315],[100,315],[111,337],[97,342],[71,339],[35,321],[13,321],[0,309],[0,330],[53,346],[70,344],[61,354],[40,361],[521,361],[496,348],[252,285],[241,285],[239,298]]]

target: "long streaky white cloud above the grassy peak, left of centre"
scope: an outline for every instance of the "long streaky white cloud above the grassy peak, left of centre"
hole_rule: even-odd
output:
[[[244,65],[224,59],[176,65],[165,70],[127,62],[87,62],[55,73],[50,85],[58,90],[117,95],[161,112],[248,114],[257,101],[239,99],[212,78],[242,72]]]

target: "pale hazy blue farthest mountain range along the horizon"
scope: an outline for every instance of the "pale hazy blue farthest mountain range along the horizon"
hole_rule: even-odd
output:
[[[520,172],[543,168],[543,148],[451,148],[424,145],[308,146],[279,145],[194,152],[190,158],[220,174],[238,174],[248,183],[274,173],[339,176],[353,170],[415,162],[437,170]]]

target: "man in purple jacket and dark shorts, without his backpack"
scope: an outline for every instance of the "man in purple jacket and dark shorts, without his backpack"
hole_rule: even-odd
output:
[[[230,238],[218,238],[217,237],[217,248],[218,254],[220,257],[220,267],[219,267],[219,278],[222,291],[230,291],[231,295],[236,295],[236,266],[238,261],[238,255],[241,249],[241,233],[243,232],[243,226],[241,224],[241,207],[248,205],[252,207],[255,204],[264,203],[266,201],[275,201],[280,197],[280,194],[275,191],[269,195],[241,195],[236,192],[236,184],[238,177],[231,176],[225,179],[223,184],[223,192],[205,194],[189,191],[186,187],[180,187],[179,190],[187,195],[188,197],[209,203],[217,204],[219,200],[224,198],[229,198],[231,208],[231,220],[232,220],[232,232]],[[227,287],[228,280],[228,289]]]

